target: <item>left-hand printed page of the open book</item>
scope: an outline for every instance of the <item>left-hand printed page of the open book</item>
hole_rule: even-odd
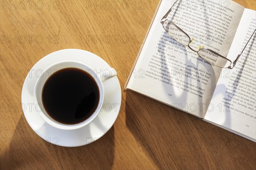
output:
[[[163,29],[161,19],[174,3],[161,2],[127,89],[204,118],[221,69]],[[195,49],[204,45],[227,56],[243,11],[233,1],[179,0],[167,19],[195,37]]]

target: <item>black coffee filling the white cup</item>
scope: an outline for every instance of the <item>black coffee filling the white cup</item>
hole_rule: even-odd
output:
[[[99,88],[84,70],[66,68],[54,72],[44,84],[44,109],[55,121],[78,124],[89,118],[99,104]]]

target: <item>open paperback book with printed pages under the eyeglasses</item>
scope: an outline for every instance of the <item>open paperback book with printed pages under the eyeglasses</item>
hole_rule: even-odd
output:
[[[125,88],[203,118],[256,141],[256,11],[231,1],[177,1],[168,15],[194,46],[204,45],[232,62],[209,64],[174,40],[160,23],[174,0],[160,1]]]

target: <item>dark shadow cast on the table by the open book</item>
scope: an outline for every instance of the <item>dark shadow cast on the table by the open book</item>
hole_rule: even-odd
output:
[[[129,90],[125,111],[126,126],[159,169],[248,167],[240,158],[246,158],[244,149],[253,144],[249,140]],[[215,164],[223,161],[233,162],[233,167]]]

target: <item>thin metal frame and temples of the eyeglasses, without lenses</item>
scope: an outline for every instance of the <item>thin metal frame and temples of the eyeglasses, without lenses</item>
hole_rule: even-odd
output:
[[[175,4],[177,3],[177,1],[178,1],[178,0],[175,1],[175,3],[172,5],[172,7],[175,6]],[[180,1],[182,1],[182,0],[180,0]],[[163,18],[161,19],[161,24],[162,24],[162,25],[163,25],[163,23],[165,23],[165,22],[168,20],[168,19],[166,19],[166,18],[167,18],[168,15],[172,12],[172,7],[169,9],[169,11],[168,11],[168,12],[163,16]],[[173,23],[173,22],[170,21],[170,20],[168,20],[168,21],[171,22],[174,26],[176,26],[181,32],[183,32],[183,34],[185,34],[187,37],[189,37],[189,35],[187,35],[187,33],[184,32],[179,26],[177,26],[175,23]],[[166,31],[166,29],[165,29],[165,31]],[[256,29],[254,30],[254,32],[253,32],[253,34],[251,35],[251,37],[249,38],[248,42],[247,42],[246,45],[244,46],[244,49],[246,48],[247,44],[250,42],[250,39],[253,37],[253,35],[254,35],[255,32],[256,32]],[[168,33],[168,32],[167,32],[167,33]],[[170,36],[172,37],[172,35],[170,35]],[[189,41],[189,44],[192,43],[193,39],[191,39],[191,38],[189,37],[189,40],[190,40],[190,41]],[[176,41],[177,41],[177,40],[176,40]],[[178,42],[178,41],[177,41],[177,42]],[[180,42],[178,42],[178,43],[180,43]],[[180,43],[180,44],[181,44],[181,43]],[[181,45],[183,45],[183,46],[188,46],[189,49],[191,49],[193,52],[196,52],[196,53],[198,53],[200,50],[206,49],[206,50],[208,50],[208,51],[214,53],[214,54],[217,55],[218,57],[221,57],[221,58],[224,58],[224,59],[227,60],[227,61],[230,61],[230,66],[227,67],[228,69],[233,69],[233,68],[234,68],[234,66],[236,65],[236,62],[239,60],[240,56],[241,56],[242,53],[244,52],[244,49],[243,49],[242,52],[241,52],[239,55],[237,55],[236,60],[232,62],[230,59],[228,59],[228,58],[226,58],[226,57],[224,57],[224,56],[218,54],[218,53],[215,52],[215,51],[212,51],[211,49],[208,49],[208,48],[201,48],[201,49],[199,49],[198,51],[196,51],[196,50],[192,49],[192,47],[189,46],[189,44],[188,44],[188,45],[183,45],[183,44],[181,44]],[[198,55],[199,55],[199,54],[198,54]],[[199,56],[200,56],[200,55],[199,55]],[[200,56],[200,57],[201,57],[201,56]],[[204,59],[204,58],[202,58],[202,59]],[[204,59],[204,60],[205,60],[205,59]],[[205,60],[205,61],[207,61],[207,60]],[[209,62],[209,61],[207,61],[207,62]],[[217,66],[217,65],[216,65],[216,66]],[[221,67],[221,66],[218,66],[218,67]],[[224,67],[221,67],[221,68],[224,68]]]

